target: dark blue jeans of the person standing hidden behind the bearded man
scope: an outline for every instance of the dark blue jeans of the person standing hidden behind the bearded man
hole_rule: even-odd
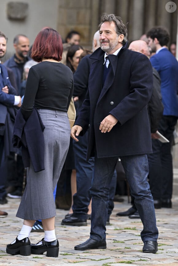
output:
[[[75,155],[75,169],[77,192],[73,195],[72,210],[75,217],[87,219],[88,205],[91,200],[89,189],[93,178],[94,157],[86,162],[88,132],[84,136],[78,137],[79,142],[73,141],[73,150]],[[114,195],[116,190],[117,174],[114,172],[110,184],[109,208],[107,218],[110,217],[114,208]]]

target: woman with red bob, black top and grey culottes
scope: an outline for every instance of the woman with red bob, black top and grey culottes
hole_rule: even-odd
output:
[[[62,40],[56,30],[44,28],[38,33],[31,57],[40,63],[29,70],[24,100],[19,111],[27,124],[33,111],[37,110],[45,127],[45,169],[35,172],[34,158],[30,158],[33,160],[30,160],[30,166],[27,167],[27,184],[16,215],[24,219],[23,226],[17,238],[6,248],[6,252],[12,255],[47,252],[47,256],[57,257],[59,253],[59,242],[55,235],[56,207],[53,191],[68,152],[70,124],[67,111],[74,86],[72,71],[60,63],[62,52]],[[34,222],[39,219],[42,220],[44,238],[37,244],[31,244],[29,235]]]

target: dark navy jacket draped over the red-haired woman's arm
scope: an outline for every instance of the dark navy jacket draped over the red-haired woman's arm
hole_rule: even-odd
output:
[[[44,131],[45,126],[36,108],[27,121],[23,118],[21,108],[17,112],[13,132],[13,146],[22,147],[22,160],[24,167],[30,166],[34,172],[44,170]]]

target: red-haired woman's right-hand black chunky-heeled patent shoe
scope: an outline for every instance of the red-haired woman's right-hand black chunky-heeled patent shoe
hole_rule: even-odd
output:
[[[38,254],[38,255],[46,252],[47,257],[58,257],[59,242],[57,239],[51,242],[47,242],[43,238],[37,244],[31,244],[31,252],[32,254]]]

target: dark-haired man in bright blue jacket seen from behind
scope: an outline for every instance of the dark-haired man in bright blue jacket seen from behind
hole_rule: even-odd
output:
[[[152,141],[153,154],[149,155],[149,180],[153,199],[162,207],[172,207],[172,155],[173,131],[178,118],[178,62],[168,51],[169,33],[163,27],[154,27],[147,33],[149,46],[156,50],[150,58],[152,66],[161,78],[161,94],[164,112],[158,131],[169,143]]]

